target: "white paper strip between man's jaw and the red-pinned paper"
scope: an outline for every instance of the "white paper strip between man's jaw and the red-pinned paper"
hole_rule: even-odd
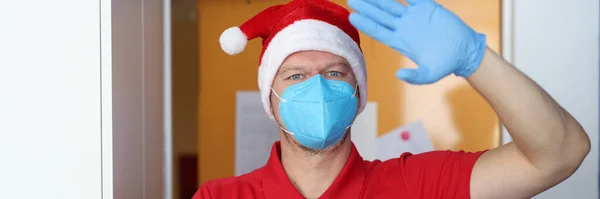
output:
[[[368,102],[356,117],[350,138],[363,159],[377,159],[377,103]]]

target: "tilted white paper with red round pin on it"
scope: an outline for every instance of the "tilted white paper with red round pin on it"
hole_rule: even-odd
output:
[[[377,158],[381,161],[400,157],[404,152],[419,154],[431,150],[433,144],[421,121],[394,129],[377,139]]]

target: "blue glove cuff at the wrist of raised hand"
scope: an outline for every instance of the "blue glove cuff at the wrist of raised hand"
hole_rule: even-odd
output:
[[[481,65],[481,60],[483,60],[483,54],[485,53],[485,49],[487,47],[486,36],[484,34],[475,33],[474,47],[475,48],[469,52],[471,56],[468,60],[466,60],[465,65],[454,72],[456,76],[466,78],[473,74],[477,68],[479,68],[479,65]]]

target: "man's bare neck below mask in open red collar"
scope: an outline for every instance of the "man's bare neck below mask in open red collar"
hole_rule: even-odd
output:
[[[289,140],[281,141],[281,164],[296,189],[306,198],[318,198],[344,168],[352,142],[345,138],[337,146],[319,153],[307,152]]]

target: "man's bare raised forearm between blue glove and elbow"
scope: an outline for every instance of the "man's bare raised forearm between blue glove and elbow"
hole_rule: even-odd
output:
[[[579,123],[492,50],[486,49],[479,69],[467,80],[491,104],[521,153],[536,168],[573,170],[587,155],[589,138]]]

